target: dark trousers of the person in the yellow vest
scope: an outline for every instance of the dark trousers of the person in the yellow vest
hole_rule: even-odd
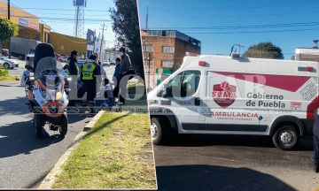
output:
[[[87,98],[82,99],[82,105],[86,106],[89,102],[89,107],[94,107],[94,98],[97,95],[97,86],[95,80],[83,81],[83,87],[79,90],[79,97],[82,97],[87,92]]]

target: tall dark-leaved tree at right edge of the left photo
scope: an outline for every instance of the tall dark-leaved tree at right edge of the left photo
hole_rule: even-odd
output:
[[[112,27],[118,41],[128,50],[136,74],[144,79],[141,34],[136,0],[118,0],[116,8],[110,8]]]

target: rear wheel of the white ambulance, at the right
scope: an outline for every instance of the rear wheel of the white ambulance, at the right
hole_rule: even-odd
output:
[[[299,140],[299,134],[294,126],[283,126],[276,130],[272,140],[278,149],[292,149]]]

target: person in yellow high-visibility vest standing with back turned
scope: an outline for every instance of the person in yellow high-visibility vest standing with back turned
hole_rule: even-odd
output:
[[[97,95],[97,85],[101,83],[101,73],[99,67],[96,64],[97,56],[90,55],[86,63],[82,65],[82,73],[80,73],[80,79],[83,83],[82,95],[87,92],[87,99],[82,100],[82,106],[87,106],[89,102],[89,107],[91,112],[94,111],[94,98]]]

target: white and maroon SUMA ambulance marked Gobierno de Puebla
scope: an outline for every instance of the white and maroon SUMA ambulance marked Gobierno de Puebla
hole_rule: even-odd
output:
[[[313,134],[318,62],[196,55],[148,94],[152,141],[171,134],[272,136],[292,149]]]

